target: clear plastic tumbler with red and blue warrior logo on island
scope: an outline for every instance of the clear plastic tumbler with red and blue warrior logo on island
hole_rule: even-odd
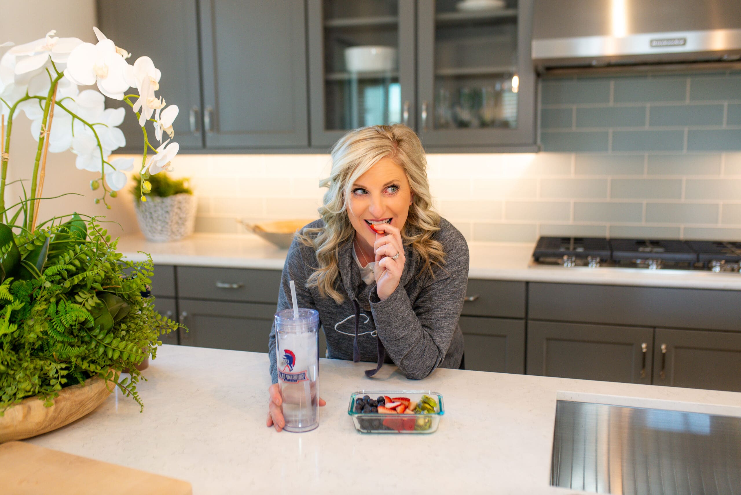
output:
[[[319,426],[319,313],[280,310],[275,316],[278,383],[285,431]]]

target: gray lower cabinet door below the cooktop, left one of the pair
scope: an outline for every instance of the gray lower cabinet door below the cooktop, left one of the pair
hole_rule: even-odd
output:
[[[651,383],[654,329],[528,321],[528,375]]]

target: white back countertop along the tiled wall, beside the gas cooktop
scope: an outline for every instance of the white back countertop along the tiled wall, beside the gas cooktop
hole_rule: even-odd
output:
[[[741,290],[741,273],[633,268],[563,268],[533,265],[532,243],[471,242],[472,279],[637,285],[648,287]],[[150,253],[159,265],[190,265],[282,270],[288,250],[254,235],[195,234],[178,242],[148,242],[141,234],[123,236],[119,250],[127,259]],[[455,253],[451,253],[455,256]]]

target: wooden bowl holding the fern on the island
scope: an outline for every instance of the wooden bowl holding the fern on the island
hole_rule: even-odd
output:
[[[84,383],[62,388],[50,408],[36,396],[23,399],[0,417],[0,443],[62,428],[101,405],[114,387],[113,382],[93,376]]]

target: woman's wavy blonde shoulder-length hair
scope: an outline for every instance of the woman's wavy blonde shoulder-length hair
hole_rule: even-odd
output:
[[[306,283],[316,287],[322,296],[341,303],[342,293],[336,290],[339,275],[339,247],[350,242],[355,229],[350,224],[348,202],[353,183],[382,158],[389,158],[404,169],[411,191],[412,204],[402,230],[402,242],[410,245],[419,256],[422,270],[434,276],[433,265],[442,268],[445,251],[433,239],[440,230],[440,216],[432,209],[432,197],[427,179],[427,159],[422,143],[413,130],[402,124],[373,125],[350,130],[332,147],[332,170],[319,187],[328,187],[319,215],[324,227],[304,228],[296,236],[316,251],[319,266],[314,268]]]

